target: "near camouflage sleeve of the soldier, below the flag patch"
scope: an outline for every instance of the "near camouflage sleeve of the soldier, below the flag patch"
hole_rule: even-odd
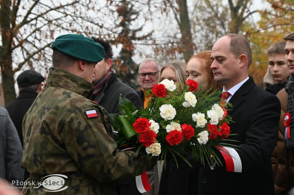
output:
[[[95,110],[98,117],[87,118],[85,111]],[[81,171],[100,182],[135,177],[155,165],[154,159],[132,151],[117,150],[117,144],[106,130],[107,116],[98,106],[84,105],[64,123],[60,138]]]

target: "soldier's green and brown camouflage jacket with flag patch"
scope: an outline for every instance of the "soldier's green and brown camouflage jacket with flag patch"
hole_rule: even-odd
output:
[[[87,99],[92,88],[72,73],[50,68],[47,86],[23,121],[21,166],[31,176],[22,194],[52,194],[64,187],[58,194],[117,194],[114,181],[140,175],[154,166],[154,160],[147,161],[144,155],[135,157],[132,151],[117,150],[107,112]],[[58,189],[52,187],[52,174],[67,177],[56,176],[64,179],[62,186],[55,186]]]

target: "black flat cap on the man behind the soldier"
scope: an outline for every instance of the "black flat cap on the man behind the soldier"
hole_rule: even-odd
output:
[[[23,71],[16,79],[20,87],[26,85],[35,85],[45,81],[44,76],[34,70]]]

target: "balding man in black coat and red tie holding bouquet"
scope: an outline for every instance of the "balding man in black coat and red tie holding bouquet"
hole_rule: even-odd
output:
[[[224,85],[232,104],[228,114],[228,139],[240,148],[217,151],[223,166],[199,170],[198,194],[274,195],[271,155],[278,138],[280,101],[255,85],[248,77],[252,61],[250,44],[244,37],[227,34],[213,46],[211,59],[214,80]],[[228,155],[227,153],[230,155]]]

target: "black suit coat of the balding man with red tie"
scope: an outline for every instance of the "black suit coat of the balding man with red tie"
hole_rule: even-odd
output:
[[[238,135],[228,139],[239,141],[240,150],[236,151],[242,162],[242,172],[227,172],[225,166],[214,170],[202,167],[198,194],[274,195],[270,159],[278,139],[280,101],[256,86],[250,76],[229,102],[233,107],[228,114],[235,122],[229,124],[231,134]]]

